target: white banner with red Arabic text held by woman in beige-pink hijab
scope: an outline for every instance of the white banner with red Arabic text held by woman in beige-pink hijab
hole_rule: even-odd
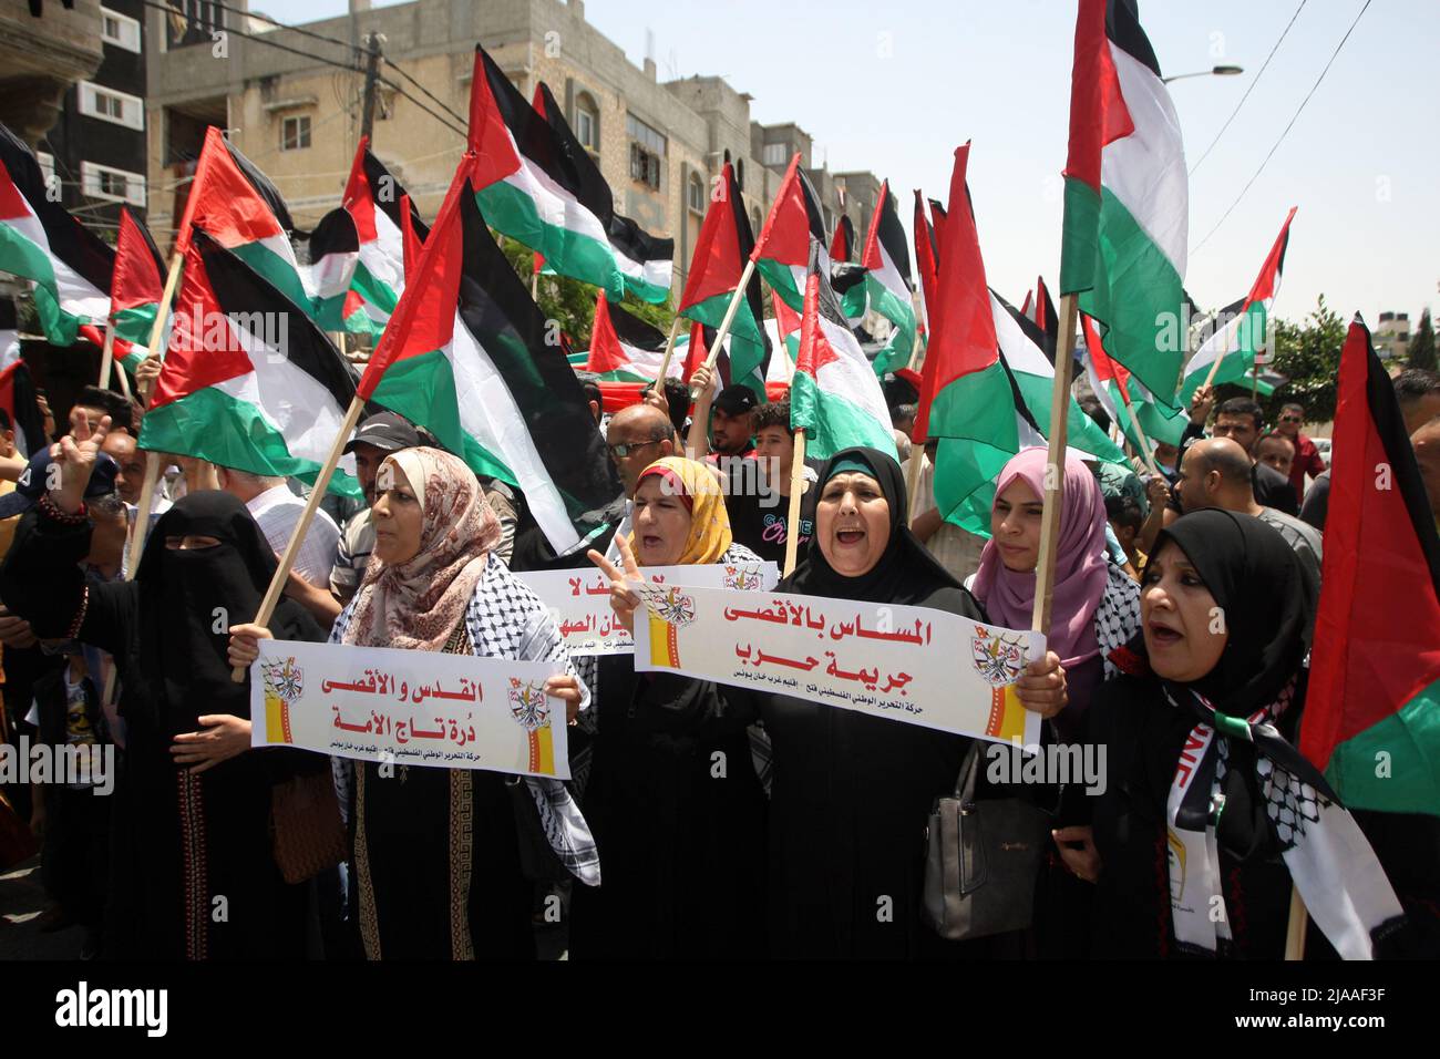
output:
[[[251,742],[397,765],[570,778],[549,661],[261,640]]]

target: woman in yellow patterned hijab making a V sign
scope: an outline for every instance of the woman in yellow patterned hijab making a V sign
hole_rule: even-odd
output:
[[[611,578],[611,604],[634,628],[625,585],[642,566],[760,562],[730,537],[710,470],[665,457],[635,484],[635,532]],[[585,811],[605,864],[575,895],[570,954],[589,958],[740,958],[765,952],[765,794],[750,761],[746,690],[636,673],[634,656],[600,658],[599,733]]]

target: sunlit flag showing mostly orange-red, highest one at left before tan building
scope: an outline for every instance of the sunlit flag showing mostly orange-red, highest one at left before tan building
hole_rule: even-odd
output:
[[[176,254],[189,251],[193,229],[203,231],[291,303],[312,313],[308,275],[289,245],[294,228],[275,184],[210,125],[176,232]]]

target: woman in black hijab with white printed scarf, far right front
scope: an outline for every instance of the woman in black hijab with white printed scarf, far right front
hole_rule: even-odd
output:
[[[1097,882],[1096,955],[1279,958],[1292,880],[1344,955],[1397,934],[1369,844],[1274,726],[1299,709],[1306,612],[1295,552],[1259,519],[1202,510],[1156,539],[1140,635],[1090,707],[1103,792],[1060,834]]]

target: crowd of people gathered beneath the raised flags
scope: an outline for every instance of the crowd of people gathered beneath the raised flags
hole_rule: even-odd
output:
[[[1165,869],[1194,703],[1263,716],[1290,741],[1303,715],[1329,490],[1305,409],[1269,425],[1256,402],[1215,406],[1201,388],[1185,437],[1153,452],[1158,475],[1139,458],[1066,460],[1047,651],[1015,694],[1044,742],[1106,748],[1104,782],[1087,794],[982,778],[981,800],[1041,807],[1051,840],[1028,926],[952,941],[923,911],[926,826],[972,739],[642,673],[625,654],[572,658],[517,575],[599,568],[629,628],[644,568],[783,563],[793,539],[780,594],[1028,628],[1047,452],[1001,471],[986,539],[939,511],[933,444],[907,496],[903,385],[887,393],[901,461],[852,448],[798,474],[788,403],[720,389],[706,367],[693,385],[694,406],[662,386],[609,416],[593,395],[624,496],[572,555],[554,553],[521,494],[423,429],[392,412],[364,419],[346,448],[364,504],[327,499],[264,628],[252,618],[300,522],[298,483],[167,458],[141,513],[140,414],[117,395],[82,393],[69,431],[30,461],[4,424],[6,738],[112,746],[118,761],[114,797],[94,797],[94,775],[12,791],[43,837],[46,928],[82,926],[86,957],[160,960],[518,960],[556,929],[575,960],[1194,954]],[[1408,370],[1395,392],[1440,522],[1440,379]],[[127,576],[141,517],[147,543]],[[268,637],[550,663],[573,778],[252,749],[249,683],[230,670]],[[1279,754],[1225,739],[1237,787],[1256,782],[1246,761]],[[730,767],[717,772],[716,755]],[[275,792],[317,779],[336,792],[346,850],[292,880],[275,857]],[[1356,818],[1407,912],[1380,951],[1434,955],[1434,834],[1397,840]],[[1290,876],[1273,820],[1221,828],[1217,850],[1230,926],[1215,954],[1279,957]]]

